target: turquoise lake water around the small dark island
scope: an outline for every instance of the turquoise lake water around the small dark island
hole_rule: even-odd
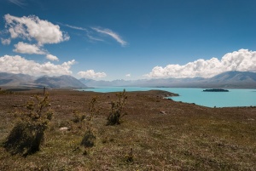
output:
[[[84,91],[94,92],[120,92],[126,91],[147,91],[160,89],[175,94],[171,97],[175,101],[195,103],[208,107],[232,107],[232,106],[256,106],[256,89],[229,89],[230,92],[203,92],[205,88],[138,88],[138,87],[108,87],[108,88],[85,88]],[[81,89],[80,89],[81,90]]]

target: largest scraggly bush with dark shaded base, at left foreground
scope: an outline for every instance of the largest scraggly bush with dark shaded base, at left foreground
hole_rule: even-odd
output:
[[[11,154],[26,156],[39,151],[44,140],[44,131],[48,128],[53,111],[49,110],[49,95],[44,98],[34,96],[21,111],[15,127],[11,130],[3,147]]]

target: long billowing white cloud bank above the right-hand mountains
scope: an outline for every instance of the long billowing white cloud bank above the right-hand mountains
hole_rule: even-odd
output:
[[[147,77],[213,77],[224,71],[256,71],[256,51],[240,49],[221,60],[195,60],[186,65],[155,66]]]

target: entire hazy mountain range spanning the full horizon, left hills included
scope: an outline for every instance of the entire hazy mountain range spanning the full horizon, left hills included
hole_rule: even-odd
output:
[[[170,87],[170,88],[256,88],[256,73],[227,71],[215,77],[159,78],[141,80],[96,81],[72,76],[32,77],[25,74],[0,73],[0,87],[93,88],[93,87]]]

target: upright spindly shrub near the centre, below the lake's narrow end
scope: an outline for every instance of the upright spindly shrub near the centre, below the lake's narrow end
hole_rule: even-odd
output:
[[[116,94],[116,96],[118,97],[118,100],[111,102],[111,110],[108,115],[107,125],[120,124],[121,117],[124,117],[127,114],[127,113],[123,113],[125,100],[127,99],[125,89],[123,92]]]

